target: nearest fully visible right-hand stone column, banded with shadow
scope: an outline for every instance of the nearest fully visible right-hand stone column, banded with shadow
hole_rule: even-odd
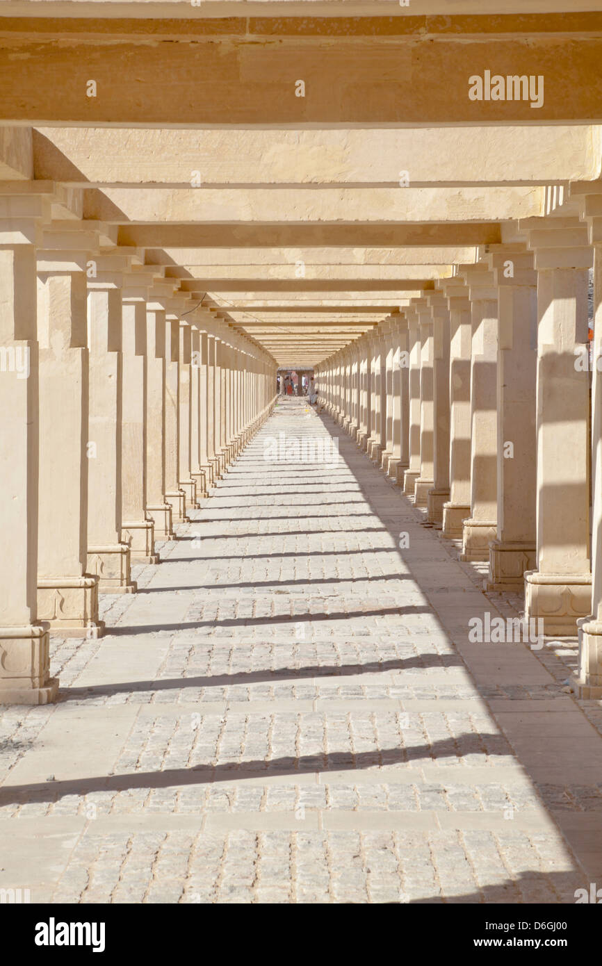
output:
[[[555,636],[574,635],[591,609],[589,381],[575,363],[588,339],[592,250],[562,247],[564,238],[576,243],[578,231],[530,232],[537,270],[537,570],[525,574],[525,615],[541,618],[544,634]]]

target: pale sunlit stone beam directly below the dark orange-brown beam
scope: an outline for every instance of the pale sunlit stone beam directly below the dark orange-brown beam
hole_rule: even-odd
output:
[[[102,189],[189,187],[192,177],[203,188],[397,187],[403,171],[416,188],[589,181],[601,168],[600,139],[588,125],[492,125],[486,132],[473,127],[132,128],[127,146],[124,151],[121,129],[37,128],[36,178]]]

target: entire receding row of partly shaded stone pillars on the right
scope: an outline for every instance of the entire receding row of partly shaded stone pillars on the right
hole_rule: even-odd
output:
[[[602,246],[572,220],[489,246],[330,356],[316,381],[461,558],[488,561],[488,591],[524,590],[533,626],[579,634],[576,684],[600,697]]]

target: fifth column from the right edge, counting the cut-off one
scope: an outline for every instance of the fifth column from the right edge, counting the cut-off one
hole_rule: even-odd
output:
[[[442,283],[449,307],[449,500],[443,534],[462,538],[471,516],[471,356],[472,323],[468,289],[461,278]]]

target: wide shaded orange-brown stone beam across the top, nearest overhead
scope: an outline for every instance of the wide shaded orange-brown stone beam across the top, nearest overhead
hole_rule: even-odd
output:
[[[595,13],[493,25],[486,15],[369,17],[350,33],[336,17],[125,25],[2,17],[0,119],[116,127],[599,122],[600,22]],[[492,68],[503,78],[544,77],[545,96],[535,109],[533,99],[470,99],[469,78]],[[94,97],[86,96],[90,79]]]

